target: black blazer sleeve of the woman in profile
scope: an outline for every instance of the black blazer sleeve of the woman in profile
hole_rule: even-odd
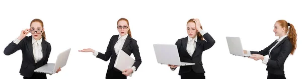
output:
[[[285,41],[281,46],[281,51],[277,56],[276,60],[269,59],[267,62],[267,66],[281,69],[286,58],[288,57],[289,53],[291,52],[291,43],[289,41]]]

